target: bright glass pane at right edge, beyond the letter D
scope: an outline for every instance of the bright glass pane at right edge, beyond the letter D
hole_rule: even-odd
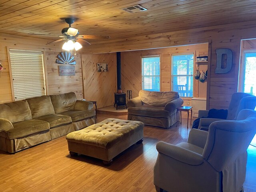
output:
[[[243,92],[256,95],[256,52],[245,53]]]

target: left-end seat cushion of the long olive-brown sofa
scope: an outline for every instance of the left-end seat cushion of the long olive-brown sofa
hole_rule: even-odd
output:
[[[13,129],[6,132],[6,138],[16,139],[50,129],[49,123],[41,120],[26,120],[13,123]]]

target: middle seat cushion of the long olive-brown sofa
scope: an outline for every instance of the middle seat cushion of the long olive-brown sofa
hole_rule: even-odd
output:
[[[36,118],[37,120],[47,121],[50,124],[50,128],[54,128],[60,125],[72,123],[71,117],[67,115],[50,114]]]

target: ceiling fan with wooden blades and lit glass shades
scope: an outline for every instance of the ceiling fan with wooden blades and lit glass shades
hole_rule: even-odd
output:
[[[62,35],[34,34],[34,33],[29,33],[29,34],[61,37],[61,39],[54,40],[52,42],[47,43],[46,45],[58,43],[65,40],[66,42],[62,46],[62,49],[64,50],[72,50],[72,49],[78,50],[82,48],[82,45],[80,43],[86,43],[90,45],[90,43],[84,39],[95,39],[95,38],[109,39],[110,38],[110,36],[101,36],[101,35],[80,35],[78,29],[71,27],[71,24],[73,24],[75,21],[74,18],[66,18],[65,21],[67,24],[69,24],[69,27],[62,29],[61,31]]]

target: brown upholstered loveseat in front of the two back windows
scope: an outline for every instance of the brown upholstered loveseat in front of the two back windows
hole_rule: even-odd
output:
[[[140,90],[139,96],[128,100],[128,120],[169,128],[177,122],[176,109],[183,104],[178,92]]]

